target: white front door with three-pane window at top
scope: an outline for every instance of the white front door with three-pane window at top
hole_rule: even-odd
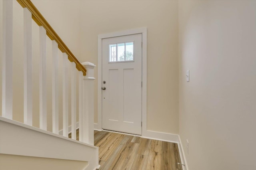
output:
[[[102,128],[142,134],[142,34],[102,40]]]

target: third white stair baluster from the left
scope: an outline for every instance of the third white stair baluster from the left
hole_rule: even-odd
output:
[[[47,130],[47,105],[46,105],[46,30],[39,27],[39,49],[40,49],[40,69],[39,69],[39,122],[40,128]]]

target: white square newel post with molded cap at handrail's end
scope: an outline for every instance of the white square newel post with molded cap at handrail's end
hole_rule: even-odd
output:
[[[96,65],[90,62],[84,62],[82,65],[86,68],[83,88],[83,123],[84,123],[84,141],[94,145],[94,68]]]

